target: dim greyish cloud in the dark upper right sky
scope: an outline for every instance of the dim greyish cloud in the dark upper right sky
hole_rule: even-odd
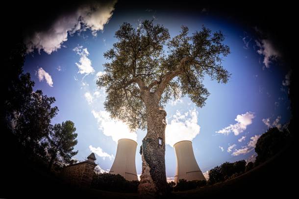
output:
[[[274,45],[270,40],[264,39],[261,41],[255,41],[256,45],[259,47],[257,53],[264,56],[264,65],[269,68],[270,63],[275,61],[277,58],[281,57],[280,52],[275,49]]]

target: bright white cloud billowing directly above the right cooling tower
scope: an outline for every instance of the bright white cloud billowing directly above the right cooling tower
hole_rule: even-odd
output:
[[[173,147],[176,142],[182,140],[192,141],[200,131],[197,116],[196,109],[189,110],[184,114],[176,111],[170,124],[166,125],[165,143]]]

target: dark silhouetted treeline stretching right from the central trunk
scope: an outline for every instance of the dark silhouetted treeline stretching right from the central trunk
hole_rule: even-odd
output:
[[[289,126],[285,125],[282,129],[277,127],[270,128],[263,133],[256,142],[255,152],[257,154],[255,162],[246,163],[245,160],[236,162],[224,162],[220,166],[216,166],[209,171],[209,179],[186,181],[180,179],[176,184],[169,182],[169,189],[171,191],[186,191],[204,187],[206,185],[213,185],[215,183],[224,182],[225,180],[238,177],[252,168],[266,162],[268,159],[279,153],[291,142],[291,133]]]

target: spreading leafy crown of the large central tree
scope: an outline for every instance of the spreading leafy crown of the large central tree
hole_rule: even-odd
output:
[[[104,53],[110,62],[104,64],[97,85],[106,89],[104,107],[110,116],[125,121],[132,130],[146,128],[148,100],[165,106],[172,98],[188,95],[202,107],[209,95],[203,78],[226,83],[230,77],[222,66],[230,52],[222,32],[202,27],[189,35],[182,26],[171,39],[167,28],[146,20],[137,29],[123,23],[115,38],[118,42]]]

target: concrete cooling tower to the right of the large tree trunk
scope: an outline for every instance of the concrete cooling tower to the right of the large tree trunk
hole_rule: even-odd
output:
[[[177,183],[179,179],[185,179],[187,181],[206,180],[196,162],[191,141],[184,140],[175,143],[174,153],[176,156],[175,183]]]

